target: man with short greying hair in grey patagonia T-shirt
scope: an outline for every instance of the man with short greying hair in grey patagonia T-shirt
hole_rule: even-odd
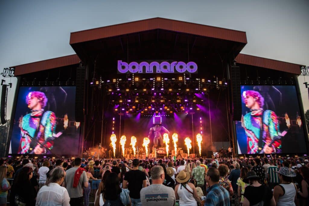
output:
[[[142,188],[140,192],[142,205],[175,205],[176,198],[173,188],[164,186],[162,184],[165,179],[163,167],[152,167],[150,174],[152,178],[152,184],[148,187]]]

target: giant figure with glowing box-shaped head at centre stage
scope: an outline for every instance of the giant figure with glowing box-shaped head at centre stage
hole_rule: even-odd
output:
[[[170,134],[170,132],[165,127],[161,126],[161,124],[162,124],[162,117],[161,116],[154,116],[153,117],[153,124],[155,124],[155,126],[150,128],[148,138],[150,139],[152,134],[154,134],[154,140],[153,140],[154,147],[157,147],[157,146],[162,147],[162,146],[164,146],[162,135],[164,133]]]

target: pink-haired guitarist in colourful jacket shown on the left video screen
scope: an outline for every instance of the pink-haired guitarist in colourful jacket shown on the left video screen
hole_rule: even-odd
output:
[[[42,92],[30,92],[26,97],[31,113],[26,114],[21,123],[21,140],[19,154],[34,152],[34,154],[50,154],[53,147],[52,138],[56,130],[56,115],[51,111],[44,111],[47,98]]]

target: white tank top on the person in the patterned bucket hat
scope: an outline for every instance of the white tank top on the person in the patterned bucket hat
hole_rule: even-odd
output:
[[[278,198],[278,206],[292,205],[295,206],[294,198],[296,195],[296,189],[294,183],[289,184],[279,184],[281,186],[284,194]]]

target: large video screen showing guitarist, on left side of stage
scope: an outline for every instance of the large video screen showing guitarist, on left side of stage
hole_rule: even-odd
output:
[[[77,155],[75,87],[20,87],[9,154]]]

